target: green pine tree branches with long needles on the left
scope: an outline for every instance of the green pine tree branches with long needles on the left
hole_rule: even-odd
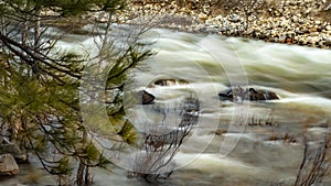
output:
[[[90,141],[93,133],[83,124],[79,108],[82,76],[92,57],[56,50],[68,30],[54,33],[49,25],[96,12],[109,14],[106,32],[98,35],[103,39],[100,51],[93,56],[107,63],[104,91],[116,95],[106,101],[107,120],[114,127],[103,128],[121,139],[116,142],[134,144],[137,136],[124,117],[121,92],[129,69],[151,53],[137,39],[121,52],[113,52],[114,39],[108,37],[111,15],[125,4],[124,0],[0,1],[0,122],[9,127],[10,141],[36,155],[60,179],[76,169],[76,184],[88,185],[89,167],[106,167],[111,160]]]

